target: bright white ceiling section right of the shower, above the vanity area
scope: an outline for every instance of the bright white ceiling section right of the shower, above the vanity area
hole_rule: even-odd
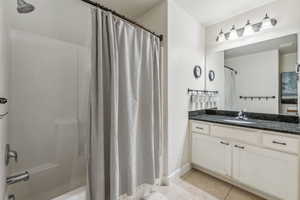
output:
[[[212,25],[275,0],[175,0],[203,25]]]

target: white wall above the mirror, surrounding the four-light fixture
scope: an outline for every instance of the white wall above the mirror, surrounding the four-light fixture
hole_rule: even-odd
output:
[[[224,22],[212,25],[206,29],[206,44],[209,51],[222,51],[247,44],[261,42],[267,39],[278,38],[300,32],[300,1],[299,0],[278,0],[260,8],[253,9],[244,14],[238,15]],[[233,24],[236,27],[243,27],[247,20],[259,22],[268,13],[271,17],[278,19],[275,28],[262,31],[253,36],[243,37],[235,41],[216,42],[216,37],[221,29],[229,31]]]

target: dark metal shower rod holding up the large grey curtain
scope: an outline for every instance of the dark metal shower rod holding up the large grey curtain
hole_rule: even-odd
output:
[[[117,17],[120,17],[121,19],[124,19],[124,20],[126,20],[127,22],[129,22],[129,23],[131,23],[131,24],[133,24],[133,25],[135,25],[135,26],[137,26],[137,27],[140,27],[140,28],[144,29],[145,31],[151,33],[152,35],[158,37],[158,38],[160,39],[160,41],[163,41],[163,35],[158,35],[158,34],[156,34],[155,32],[153,32],[153,31],[147,29],[146,27],[144,27],[144,26],[138,24],[137,22],[135,22],[135,21],[133,21],[133,20],[131,20],[131,19],[128,19],[127,17],[125,17],[125,16],[123,16],[123,15],[117,13],[117,12],[114,11],[114,10],[111,10],[111,9],[109,9],[109,8],[107,8],[107,7],[105,7],[105,6],[102,6],[101,4],[99,4],[99,3],[97,3],[97,2],[94,2],[94,1],[91,1],[91,0],[81,0],[81,1],[83,1],[83,2],[85,2],[85,3],[88,3],[88,4],[90,4],[90,5],[93,5],[93,6],[95,6],[95,7],[101,8],[102,10],[111,12],[112,14],[116,15]]]

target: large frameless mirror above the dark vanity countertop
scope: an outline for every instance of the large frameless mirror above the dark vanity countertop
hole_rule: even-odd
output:
[[[225,109],[298,115],[297,35],[225,51]]]

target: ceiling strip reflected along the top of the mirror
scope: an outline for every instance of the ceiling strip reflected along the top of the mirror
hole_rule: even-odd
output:
[[[286,37],[281,37],[256,44],[251,44],[244,47],[238,47],[235,49],[227,50],[225,51],[225,59],[274,49],[278,49],[280,54],[289,54],[297,52],[297,48],[297,35],[294,34]]]

